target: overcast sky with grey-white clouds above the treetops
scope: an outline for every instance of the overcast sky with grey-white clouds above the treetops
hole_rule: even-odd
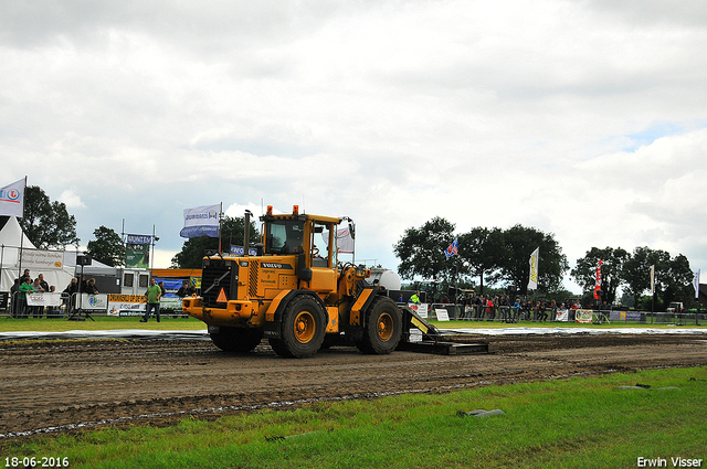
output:
[[[187,207],[517,223],[707,273],[704,1],[12,1],[0,185],[181,248]],[[707,275],[706,275],[707,276]]]

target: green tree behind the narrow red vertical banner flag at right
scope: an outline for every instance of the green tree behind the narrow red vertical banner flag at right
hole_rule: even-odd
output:
[[[577,266],[570,271],[570,275],[585,294],[591,294],[593,297],[597,266],[601,259],[603,263],[601,266],[601,299],[613,303],[619,287],[624,284],[624,264],[630,257],[629,252],[621,247],[616,249],[613,247],[603,249],[592,247],[584,257],[577,259]]]

